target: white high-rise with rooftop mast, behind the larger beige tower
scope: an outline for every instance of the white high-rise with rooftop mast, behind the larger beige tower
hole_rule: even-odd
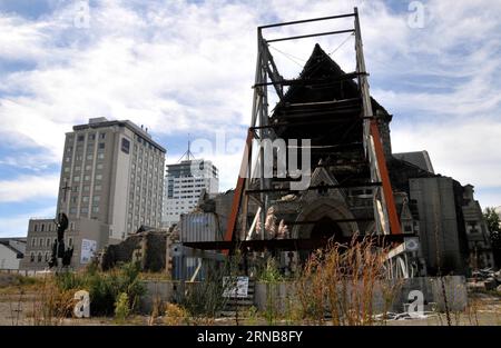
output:
[[[179,222],[181,213],[196,208],[203,191],[215,195],[219,190],[219,171],[212,161],[203,159],[183,160],[167,165],[163,226],[170,227]]]

